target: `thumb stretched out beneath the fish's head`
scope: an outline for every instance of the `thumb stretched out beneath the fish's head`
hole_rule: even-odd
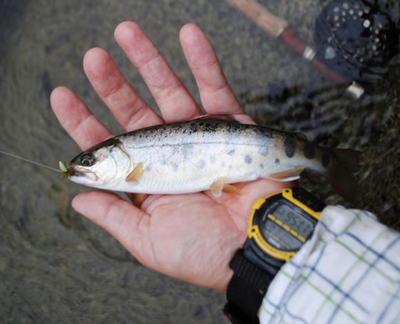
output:
[[[145,212],[117,194],[99,191],[78,194],[72,200],[72,207],[114,236],[140,263],[152,265],[151,249],[146,246],[150,242],[150,216]]]

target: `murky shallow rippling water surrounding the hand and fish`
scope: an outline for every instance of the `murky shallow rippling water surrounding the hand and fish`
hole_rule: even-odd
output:
[[[313,43],[321,3],[260,2]],[[178,38],[181,26],[193,22],[258,123],[363,151],[361,199],[352,207],[400,229],[398,57],[363,97],[352,99],[222,0],[0,0],[0,19],[0,150],[54,168],[79,152],[50,108],[58,85],[74,90],[113,132],[123,132],[83,72],[83,55],[94,46],[108,50],[156,108],[113,39],[124,20],[141,25],[199,101]],[[1,323],[227,323],[223,293],[146,269],[74,212],[71,200],[86,188],[10,156],[0,155],[0,163]],[[326,203],[350,206],[317,174],[308,172],[299,185]]]

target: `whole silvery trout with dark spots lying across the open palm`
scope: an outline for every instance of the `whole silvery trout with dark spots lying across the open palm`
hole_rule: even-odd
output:
[[[94,188],[139,194],[211,190],[214,196],[223,190],[240,194],[230,183],[299,179],[307,168],[355,201],[353,172],[361,168],[361,157],[354,150],[313,145],[302,134],[207,116],[115,136],[60,167],[71,181]]]

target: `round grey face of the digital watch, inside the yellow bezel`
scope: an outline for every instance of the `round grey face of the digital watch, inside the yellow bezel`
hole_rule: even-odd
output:
[[[314,223],[299,208],[284,201],[269,208],[260,225],[264,239],[283,251],[299,250],[314,229]]]

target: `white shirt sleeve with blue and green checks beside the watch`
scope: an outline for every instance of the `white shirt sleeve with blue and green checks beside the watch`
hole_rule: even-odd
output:
[[[400,323],[400,234],[363,210],[328,206],[275,276],[260,323]]]

